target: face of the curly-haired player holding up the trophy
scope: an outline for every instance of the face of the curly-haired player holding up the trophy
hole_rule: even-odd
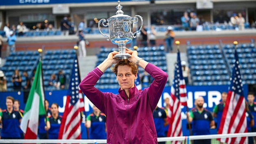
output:
[[[118,66],[117,68],[117,81],[121,89],[130,89],[134,87],[134,80],[137,75],[132,74],[132,68],[129,66]]]

